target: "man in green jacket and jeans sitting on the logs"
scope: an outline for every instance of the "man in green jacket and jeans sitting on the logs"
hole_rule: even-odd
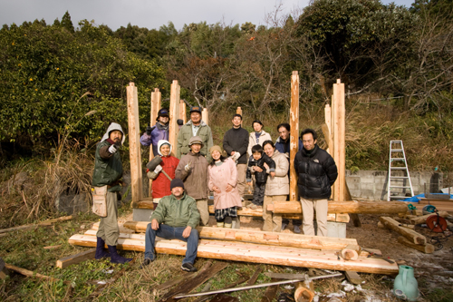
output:
[[[189,272],[197,271],[194,267],[198,251],[199,213],[197,202],[184,192],[182,180],[170,182],[171,195],[159,200],[158,208],[151,215],[145,234],[145,259],[141,268],[148,266],[156,259],[154,253],[156,236],[163,239],[186,241],[188,247],[186,257],[182,260],[181,269]]]

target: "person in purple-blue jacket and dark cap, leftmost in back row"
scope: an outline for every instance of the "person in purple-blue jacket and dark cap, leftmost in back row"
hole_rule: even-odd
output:
[[[156,124],[151,128],[148,126],[146,132],[140,137],[143,146],[152,144],[152,153],[158,155],[158,142],[160,140],[169,141],[169,110],[161,108],[158,112]]]

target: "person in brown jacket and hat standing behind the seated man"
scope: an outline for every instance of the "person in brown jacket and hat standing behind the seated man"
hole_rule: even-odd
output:
[[[197,200],[200,224],[206,226],[209,221],[209,210],[207,209],[209,174],[207,172],[207,160],[200,153],[204,143],[200,137],[194,136],[188,141],[188,147],[190,151],[181,157],[175,171],[175,177],[184,181],[188,196]]]

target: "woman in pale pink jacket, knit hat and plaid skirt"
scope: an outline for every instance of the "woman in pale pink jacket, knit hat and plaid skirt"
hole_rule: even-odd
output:
[[[237,207],[242,207],[241,196],[236,189],[237,170],[235,161],[222,156],[219,146],[209,149],[212,161],[209,164],[209,190],[214,191],[214,209],[218,228],[232,227],[237,217]]]

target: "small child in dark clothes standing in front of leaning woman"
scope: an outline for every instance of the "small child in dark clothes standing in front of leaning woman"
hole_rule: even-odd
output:
[[[263,153],[261,145],[252,147],[252,157],[248,161],[248,169],[246,173],[246,181],[248,185],[252,184],[252,173],[255,174],[255,190],[252,203],[247,206],[249,209],[257,209],[258,206],[263,206],[265,200],[265,183],[267,181],[267,173],[265,163],[269,166],[269,174],[275,177],[275,161]]]

